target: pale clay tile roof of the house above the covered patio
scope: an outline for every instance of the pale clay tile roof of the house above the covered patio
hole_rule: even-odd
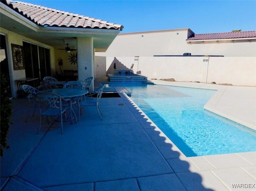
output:
[[[2,0],[1,2],[38,26],[48,25],[52,27],[114,29],[121,31],[124,28],[120,24],[114,24],[26,2]]]

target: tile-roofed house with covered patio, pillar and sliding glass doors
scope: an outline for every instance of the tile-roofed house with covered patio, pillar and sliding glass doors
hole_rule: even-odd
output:
[[[16,83],[20,79],[42,80],[60,73],[59,59],[63,61],[63,70],[78,73],[78,80],[95,78],[96,70],[106,71],[105,65],[95,64],[95,52],[106,51],[124,28],[121,24],[20,1],[1,0],[0,9],[1,37],[6,41],[1,56],[6,58],[4,72],[10,76],[13,98],[18,95]],[[14,46],[24,53],[22,67],[17,67],[12,59]],[[93,84],[94,81],[92,91]]]

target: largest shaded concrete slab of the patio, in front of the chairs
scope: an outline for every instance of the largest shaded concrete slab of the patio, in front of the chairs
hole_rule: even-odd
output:
[[[66,128],[64,134],[52,130],[18,175],[46,187],[170,172],[146,132],[134,123],[74,126]]]

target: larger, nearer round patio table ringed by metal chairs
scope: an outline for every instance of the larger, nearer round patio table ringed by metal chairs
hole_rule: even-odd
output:
[[[42,92],[54,93],[64,98],[70,98],[70,99],[74,99],[78,96],[83,96],[89,93],[88,90],[84,90],[84,89],[68,89],[68,88],[67,89],[49,89],[49,90],[43,90]],[[63,122],[66,122],[66,121],[70,121],[71,118],[69,116],[64,116],[62,120]]]

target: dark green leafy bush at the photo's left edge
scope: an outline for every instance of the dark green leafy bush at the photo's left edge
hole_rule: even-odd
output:
[[[7,83],[6,76],[1,73],[1,81],[0,81],[1,153],[0,153],[0,156],[4,155],[4,149],[10,148],[10,146],[8,146],[8,144],[7,144],[7,136],[8,136],[8,132],[9,132],[10,118],[12,117],[12,102],[9,99],[9,94],[8,94],[9,89],[10,89],[10,86]]]

